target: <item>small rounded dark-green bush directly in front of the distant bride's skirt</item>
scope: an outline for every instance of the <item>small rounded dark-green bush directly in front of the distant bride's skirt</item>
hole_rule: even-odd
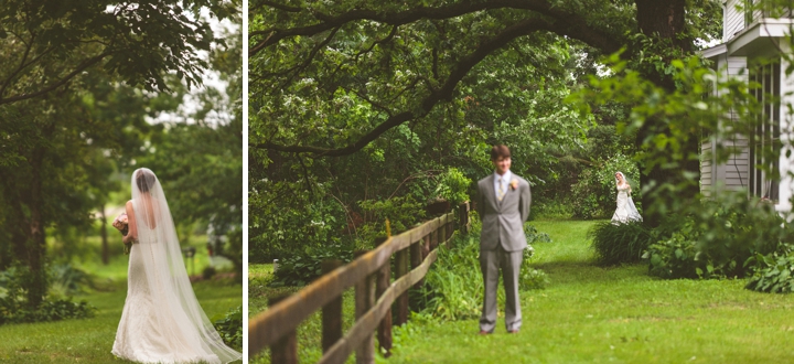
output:
[[[642,222],[612,224],[603,222],[588,232],[596,250],[596,260],[602,266],[637,263],[652,242],[651,229]]]

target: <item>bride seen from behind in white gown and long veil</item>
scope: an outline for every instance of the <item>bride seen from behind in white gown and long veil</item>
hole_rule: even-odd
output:
[[[228,363],[242,354],[226,346],[193,293],[173,218],[154,173],[132,173],[127,202],[127,300],[112,354],[140,363]]]

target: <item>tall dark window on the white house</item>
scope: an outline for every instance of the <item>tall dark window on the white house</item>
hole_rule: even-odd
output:
[[[780,60],[751,68],[752,90],[762,105],[750,138],[750,194],[777,201],[780,180]]]

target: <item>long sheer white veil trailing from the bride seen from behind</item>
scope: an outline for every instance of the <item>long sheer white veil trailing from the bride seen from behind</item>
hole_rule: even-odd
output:
[[[152,171],[141,168],[132,173],[132,206],[138,244],[158,329],[175,340],[182,350],[206,362],[228,363],[243,354],[226,346],[198,306],[182,260],[182,250],[162,186]],[[214,354],[214,355],[213,355]]]

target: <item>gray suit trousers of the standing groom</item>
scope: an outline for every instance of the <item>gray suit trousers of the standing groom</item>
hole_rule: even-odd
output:
[[[521,271],[524,250],[505,251],[501,244],[492,250],[480,250],[480,269],[485,283],[485,300],[480,330],[493,332],[496,326],[496,287],[498,286],[500,270],[505,288],[505,326],[518,330],[522,324],[521,302],[518,300],[518,272]]]

